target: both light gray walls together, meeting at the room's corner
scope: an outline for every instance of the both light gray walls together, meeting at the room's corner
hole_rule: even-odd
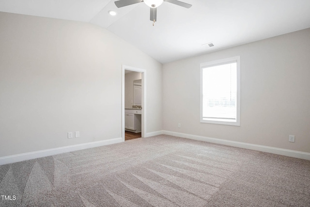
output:
[[[237,55],[241,126],[200,123],[200,63]],[[162,66],[91,24],[0,13],[0,157],[120,138],[122,64],[147,70],[147,133],[310,152],[309,57],[307,29]]]

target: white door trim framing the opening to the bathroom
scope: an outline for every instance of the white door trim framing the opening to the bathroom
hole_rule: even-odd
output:
[[[141,114],[141,137],[146,134],[146,70],[128,65],[122,65],[122,140],[125,141],[125,70],[142,73],[142,114]]]

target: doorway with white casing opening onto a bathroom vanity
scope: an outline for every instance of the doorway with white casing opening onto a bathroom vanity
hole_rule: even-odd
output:
[[[144,137],[146,70],[122,67],[122,141]]]

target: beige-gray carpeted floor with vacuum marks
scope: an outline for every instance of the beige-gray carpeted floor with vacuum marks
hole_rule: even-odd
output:
[[[1,207],[310,207],[310,161],[159,135],[0,166]]]

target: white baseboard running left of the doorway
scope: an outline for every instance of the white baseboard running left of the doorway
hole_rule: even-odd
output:
[[[72,152],[72,151],[77,151],[77,150],[87,149],[87,148],[92,148],[92,147],[97,147],[97,146],[104,146],[104,145],[113,144],[113,143],[121,143],[121,142],[122,142],[122,138],[114,138],[114,139],[102,140],[102,141],[97,141],[97,142],[92,142],[92,143],[75,144],[75,145],[70,145],[70,146],[57,147],[53,149],[46,149],[46,150],[40,150],[40,151],[35,151],[35,152],[22,153],[18,155],[11,155],[11,156],[6,156],[6,157],[1,157],[0,165],[13,163],[13,162],[19,162],[19,161],[28,160],[28,159],[42,158],[46,156],[56,155],[56,154],[65,153],[65,152]]]

